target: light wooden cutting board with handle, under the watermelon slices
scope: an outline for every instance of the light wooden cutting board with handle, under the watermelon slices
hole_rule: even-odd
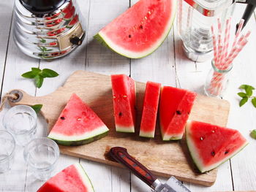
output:
[[[154,174],[162,177],[175,176],[183,180],[200,185],[212,185],[217,177],[217,169],[206,174],[200,174],[189,156],[186,140],[163,142],[157,127],[154,139],[138,137],[143,94],[145,83],[137,82],[138,126],[135,134],[118,133],[113,118],[113,103],[110,76],[86,71],[72,74],[63,87],[47,96],[29,96],[24,91],[17,104],[43,104],[42,115],[49,123],[49,130],[53,127],[61,110],[72,93],[78,94],[99,115],[99,118],[110,129],[107,137],[78,147],[59,146],[61,153],[79,158],[86,158],[103,164],[121,166],[108,158],[110,147],[126,147],[128,152],[150,169]],[[198,95],[190,115],[191,120],[200,120],[226,126],[230,105],[227,101]]]

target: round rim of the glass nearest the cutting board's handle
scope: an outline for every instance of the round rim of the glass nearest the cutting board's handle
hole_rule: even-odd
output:
[[[12,110],[15,110],[15,108],[18,108],[18,107],[26,107],[28,108],[29,110],[31,110],[31,116],[33,118],[35,118],[34,122],[33,122],[33,125],[31,126],[32,128],[26,132],[26,133],[20,133],[20,134],[17,134],[17,135],[22,135],[22,134],[30,134],[31,132],[33,132],[36,128],[37,128],[37,113],[34,111],[34,109],[32,107],[30,107],[29,105],[24,105],[24,104],[19,104],[19,105],[16,105],[12,108],[10,108],[10,110],[8,110],[5,114],[4,114],[4,118],[2,120],[3,122],[3,125],[4,125],[4,128],[7,129],[7,131],[10,131],[8,126],[7,126],[7,115],[10,115],[10,112],[12,112]],[[12,131],[10,131],[10,133],[12,133]],[[12,133],[12,134],[16,134],[16,133]]]

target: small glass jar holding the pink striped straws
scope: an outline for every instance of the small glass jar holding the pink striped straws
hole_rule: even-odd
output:
[[[207,96],[222,98],[229,82],[229,72],[233,68],[233,64],[229,66],[217,66],[214,59],[211,61],[211,70],[206,77],[204,91]]]

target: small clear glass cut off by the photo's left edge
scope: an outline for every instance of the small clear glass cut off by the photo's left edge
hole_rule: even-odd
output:
[[[11,169],[15,153],[15,139],[8,131],[0,130],[0,173]]]

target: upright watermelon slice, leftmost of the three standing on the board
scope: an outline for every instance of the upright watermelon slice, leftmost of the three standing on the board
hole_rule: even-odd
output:
[[[111,75],[116,131],[135,132],[135,81],[125,74]]]

